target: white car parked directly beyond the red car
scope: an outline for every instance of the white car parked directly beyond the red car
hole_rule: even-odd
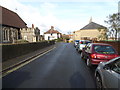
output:
[[[76,45],[76,50],[81,53],[82,49],[88,43],[91,43],[91,41],[89,41],[89,40],[79,40],[79,43]]]

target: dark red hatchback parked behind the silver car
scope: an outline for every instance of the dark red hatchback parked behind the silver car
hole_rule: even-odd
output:
[[[112,45],[104,43],[89,43],[81,52],[81,58],[86,61],[87,66],[98,65],[115,57],[118,57],[118,52]]]

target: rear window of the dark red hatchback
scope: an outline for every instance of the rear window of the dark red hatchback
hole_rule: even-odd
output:
[[[115,50],[112,46],[105,46],[105,45],[95,45],[94,51],[100,54],[115,54]]]

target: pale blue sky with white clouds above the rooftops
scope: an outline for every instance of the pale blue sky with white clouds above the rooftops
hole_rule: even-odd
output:
[[[51,26],[63,34],[80,30],[92,21],[107,26],[107,16],[118,12],[120,0],[0,0],[0,5],[16,12],[41,35]]]

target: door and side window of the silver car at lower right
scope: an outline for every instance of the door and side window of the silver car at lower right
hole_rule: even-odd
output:
[[[109,69],[103,70],[103,85],[106,88],[120,89],[120,59],[108,65]]]

